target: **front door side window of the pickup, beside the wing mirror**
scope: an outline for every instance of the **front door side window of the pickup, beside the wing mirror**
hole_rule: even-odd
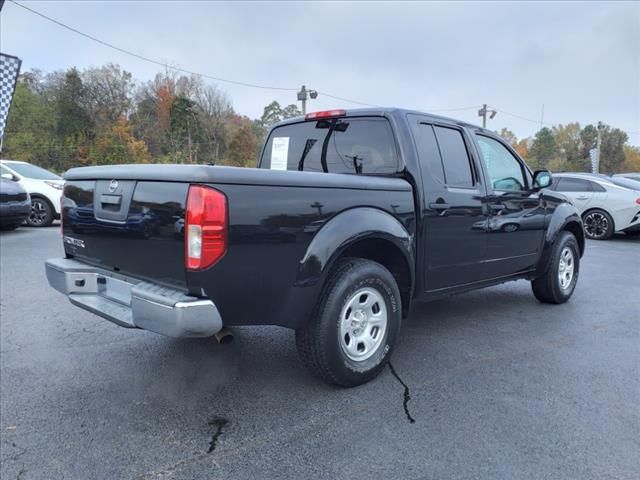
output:
[[[477,135],[480,154],[489,173],[489,181],[494,190],[526,190],[522,165],[511,152],[497,140]]]

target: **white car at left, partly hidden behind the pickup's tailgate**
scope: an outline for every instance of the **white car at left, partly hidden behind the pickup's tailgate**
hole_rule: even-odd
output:
[[[60,218],[64,180],[44,168],[17,160],[0,160],[0,175],[18,182],[31,195],[27,225],[45,227]]]

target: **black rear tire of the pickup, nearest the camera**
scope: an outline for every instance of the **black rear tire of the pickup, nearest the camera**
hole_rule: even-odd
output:
[[[364,343],[358,343],[355,330],[353,339],[349,334],[343,337],[340,332],[341,322],[344,323],[343,328],[353,328],[354,320],[349,322],[347,319],[356,314],[362,315],[363,310],[351,311],[349,305],[354,301],[363,302],[364,305],[367,294],[359,293],[363,291],[371,292],[371,298],[376,301],[370,312],[374,311],[376,305],[378,311],[381,307],[386,309],[386,328],[378,332],[381,337],[374,341],[377,346],[367,353],[370,356],[356,361],[349,358],[345,351],[348,348],[345,346],[347,339],[349,345],[354,342],[356,355]],[[380,305],[379,300],[384,302],[384,306]],[[345,308],[346,315],[341,318]],[[375,327],[368,325],[368,315],[365,314],[364,318],[362,330],[373,331]],[[393,275],[371,260],[347,258],[333,269],[309,324],[296,330],[298,353],[309,369],[325,382],[343,387],[362,385],[375,378],[384,368],[398,337],[401,319],[400,291]],[[363,335],[367,334],[365,332]]]

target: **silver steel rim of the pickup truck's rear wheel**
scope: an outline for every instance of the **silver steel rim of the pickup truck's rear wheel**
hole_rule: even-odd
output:
[[[355,362],[370,358],[382,344],[387,331],[387,305],[373,288],[354,293],[340,314],[340,346]]]

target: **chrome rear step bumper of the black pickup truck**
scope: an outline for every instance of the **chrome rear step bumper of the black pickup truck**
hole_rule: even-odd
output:
[[[222,318],[208,299],[185,295],[68,258],[45,262],[49,284],[71,303],[127,328],[168,337],[209,337]]]

